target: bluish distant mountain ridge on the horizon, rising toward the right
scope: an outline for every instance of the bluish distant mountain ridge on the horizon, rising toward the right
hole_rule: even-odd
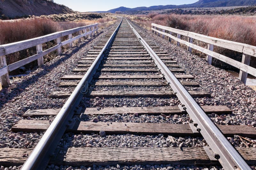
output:
[[[126,8],[119,7],[116,9],[108,11],[98,11],[98,12],[111,12],[115,13],[116,11],[121,11],[123,13],[131,11],[151,11],[151,10],[164,10],[164,9],[174,9],[174,8],[192,8],[192,7],[226,7],[226,6],[247,6],[255,5],[256,0],[199,0],[193,4],[184,4],[184,5],[158,5],[150,7],[137,7],[137,8]]]

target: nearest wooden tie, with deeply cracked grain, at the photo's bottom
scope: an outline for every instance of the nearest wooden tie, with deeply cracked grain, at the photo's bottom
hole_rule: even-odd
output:
[[[186,164],[186,165],[216,165],[211,161],[204,148],[68,148],[60,149],[66,155],[58,154],[50,164],[84,166],[84,165],[160,165],[160,164]],[[253,165],[256,161],[256,148],[236,148],[246,163]],[[1,148],[0,164],[2,166],[20,166],[33,149]],[[84,155],[90,155],[84,156]],[[65,158],[64,158],[65,156]],[[163,159],[164,158],[164,159]]]

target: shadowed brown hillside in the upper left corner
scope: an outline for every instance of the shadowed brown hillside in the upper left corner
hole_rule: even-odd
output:
[[[50,15],[73,13],[70,8],[59,5],[51,0],[1,0],[0,15],[15,18],[28,15]]]

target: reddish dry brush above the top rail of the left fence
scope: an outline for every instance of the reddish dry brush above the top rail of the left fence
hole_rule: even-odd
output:
[[[1,22],[1,21],[0,21]],[[80,26],[86,26],[96,21],[67,21],[55,22],[51,19],[32,18],[17,20],[12,22],[1,22],[0,24],[0,44],[7,44],[17,41],[23,41],[57,31],[68,30]]]

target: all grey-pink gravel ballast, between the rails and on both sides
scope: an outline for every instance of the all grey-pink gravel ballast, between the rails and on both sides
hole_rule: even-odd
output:
[[[0,147],[9,148],[33,148],[43,135],[43,133],[13,133],[10,128],[23,119],[21,116],[28,109],[49,109],[61,108],[66,99],[49,99],[48,95],[53,91],[73,91],[74,88],[59,88],[61,82],[60,77],[63,75],[84,75],[84,73],[74,73],[72,70],[76,68],[77,62],[80,58],[86,56],[87,51],[92,48],[100,38],[107,32],[106,28],[103,33],[95,37],[90,42],[82,42],[78,47],[68,50],[65,54],[58,56],[49,63],[46,63],[43,68],[39,68],[31,72],[28,76],[20,78],[12,82],[9,88],[5,88],[0,92],[1,114],[0,114]],[[175,74],[192,74],[195,80],[200,84],[200,87],[186,87],[187,90],[202,90],[211,92],[212,98],[195,98],[200,105],[226,105],[233,110],[232,115],[208,115],[216,124],[228,125],[249,125],[256,129],[256,92],[250,87],[244,85],[237,78],[233,77],[225,70],[220,70],[214,66],[208,65],[204,59],[188,53],[186,50],[177,47],[168,41],[153,35],[151,32],[139,28],[146,37],[152,40],[156,45],[159,45],[164,51],[169,53],[169,56],[174,58],[180,65],[180,69],[184,69],[185,73]],[[121,68],[121,67],[120,67]],[[122,68],[121,68],[122,69]],[[143,68],[146,69],[146,68]],[[151,68],[150,68],[151,69]],[[207,74],[206,74],[207,73]],[[97,75],[159,75],[160,72],[101,72]],[[106,81],[106,80],[100,80]],[[110,80],[114,81],[114,80]],[[127,80],[115,80],[127,81]],[[152,80],[137,80],[137,81],[160,81],[161,79]],[[191,80],[182,80],[191,81]],[[166,91],[171,90],[170,86],[156,88],[156,87],[104,87],[95,86],[97,91]],[[4,100],[5,99],[5,100]],[[7,100],[7,101],[6,101]],[[173,98],[129,98],[129,97],[115,97],[115,98],[86,98],[84,97],[80,103],[80,107],[156,107],[156,106],[177,106],[180,101]],[[168,115],[167,115],[168,116]],[[42,118],[28,118],[38,120],[52,120],[54,117]],[[74,117],[79,121],[102,121],[102,122],[150,122],[150,123],[191,123],[189,116],[184,115],[170,115],[163,117],[163,115],[81,115]],[[168,137],[163,135],[104,135],[102,134],[73,134],[66,133],[62,137],[58,147],[203,147],[206,142],[202,137],[174,137],[175,142],[171,142]],[[228,140],[233,146],[245,147],[237,136],[228,137]],[[253,140],[253,139],[250,139]],[[255,140],[256,142],[256,140]],[[256,144],[247,143],[250,147],[256,147]],[[13,167],[11,168],[13,169]],[[215,170],[221,167],[197,167],[197,166],[183,166],[183,165],[132,165],[132,166],[55,166],[49,165],[47,169],[204,169]]]

